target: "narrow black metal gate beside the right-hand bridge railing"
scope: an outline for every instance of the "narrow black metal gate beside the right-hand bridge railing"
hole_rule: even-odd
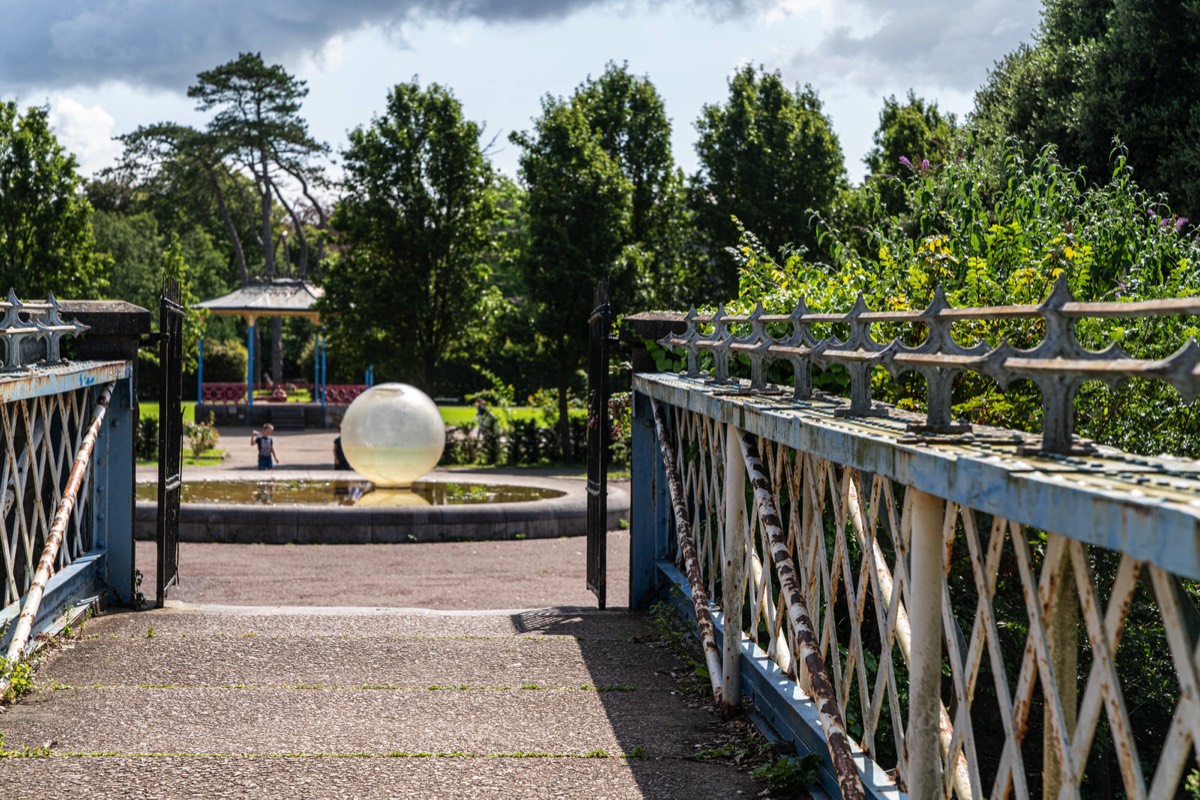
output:
[[[608,287],[595,289],[595,308],[588,318],[588,589],[605,607],[608,546],[608,342],[612,309]]]

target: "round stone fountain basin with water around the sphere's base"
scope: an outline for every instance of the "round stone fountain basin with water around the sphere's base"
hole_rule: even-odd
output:
[[[416,481],[410,493],[376,488],[349,503],[349,497],[338,497],[338,485],[348,495],[352,487],[362,488],[364,481],[347,481],[346,473],[334,471],[306,477],[299,481],[276,474],[266,479],[226,470],[211,480],[185,482],[180,541],[367,545],[587,533],[587,483],[578,479],[438,470]],[[139,539],[155,536],[156,491],[156,483],[138,486],[134,533]],[[629,518],[629,495],[610,488],[607,527],[617,528],[623,518]]]

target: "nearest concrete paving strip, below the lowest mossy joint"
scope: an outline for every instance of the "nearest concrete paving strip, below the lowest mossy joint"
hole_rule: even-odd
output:
[[[617,758],[0,759],[0,786],[7,800],[727,800],[758,790],[749,775],[722,764]]]

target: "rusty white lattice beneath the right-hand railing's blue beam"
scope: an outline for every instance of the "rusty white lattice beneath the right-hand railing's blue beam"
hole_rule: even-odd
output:
[[[709,597],[720,604],[726,583],[737,581],[744,636],[806,690],[749,493],[739,531],[744,563],[728,573],[724,566],[726,464],[740,463],[742,453],[727,452],[725,422],[671,411]],[[914,587],[916,491],[764,438],[757,449],[841,717],[900,788],[912,754],[905,739],[910,608],[914,593],[936,591],[946,798],[1034,798],[1048,784],[1061,787],[1060,798],[1180,796],[1200,742],[1200,614],[1192,583],[941,501],[943,581]],[[1147,718],[1147,692],[1171,698],[1174,714]]]

